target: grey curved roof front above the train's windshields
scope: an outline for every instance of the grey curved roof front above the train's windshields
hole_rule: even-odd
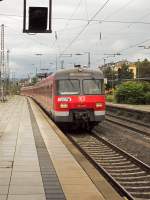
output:
[[[73,69],[65,69],[65,70],[59,70],[55,72],[54,77],[56,79],[59,78],[79,78],[79,77],[93,77],[93,78],[104,78],[103,73],[100,70],[92,70],[92,69],[86,69],[86,68],[73,68]]]

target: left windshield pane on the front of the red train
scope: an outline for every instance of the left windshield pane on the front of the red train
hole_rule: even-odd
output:
[[[75,79],[57,81],[58,95],[80,94],[80,81]]]

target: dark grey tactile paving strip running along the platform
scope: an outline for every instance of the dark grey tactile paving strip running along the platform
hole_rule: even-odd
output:
[[[46,200],[66,200],[29,102],[28,106]]]

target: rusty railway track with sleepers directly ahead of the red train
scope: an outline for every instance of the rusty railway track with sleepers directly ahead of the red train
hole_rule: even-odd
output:
[[[128,199],[150,199],[150,167],[93,131],[69,139]]]

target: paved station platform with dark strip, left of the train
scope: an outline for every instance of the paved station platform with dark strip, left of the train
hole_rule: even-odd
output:
[[[100,192],[54,126],[31,99],[0,103],[0,200],[121,200],[103,177]]]

